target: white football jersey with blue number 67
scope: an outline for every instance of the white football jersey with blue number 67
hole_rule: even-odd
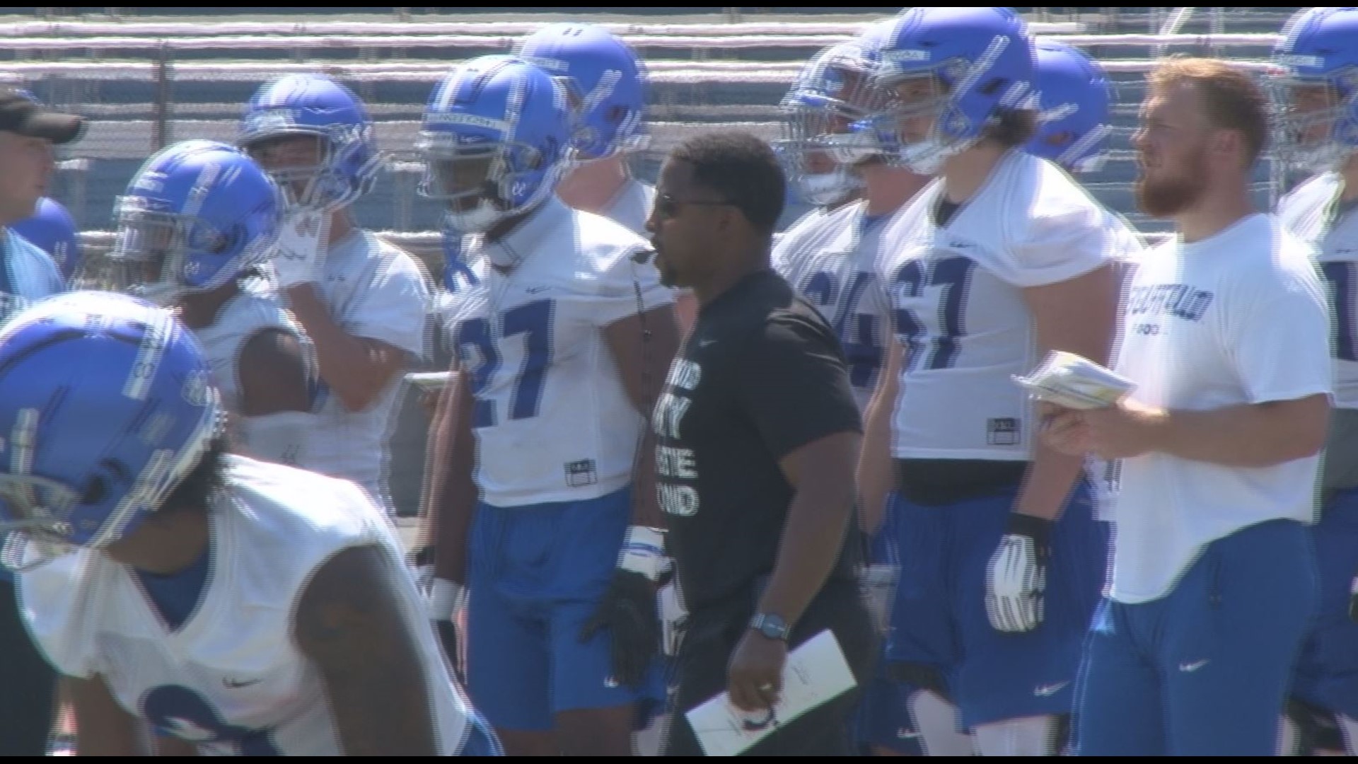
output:
[[[904,348],[896,458],[1027,461],[1042,359],[1023,290],[1082,276],[1141,243],[1059,167],[1010,151],[947,226],[934,179],[881,234],[879,273]]]

